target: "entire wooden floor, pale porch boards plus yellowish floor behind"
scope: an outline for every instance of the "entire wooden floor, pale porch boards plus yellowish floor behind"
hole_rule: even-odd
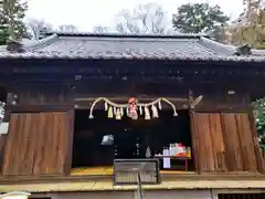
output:
[[[8,191],[100,191],[135,190],[136,186],[114,186],[112,168],[76,168],[71,176],[0,177],[0,190]],[[169,171],[162,171],[169,172]],[[145,189],[248,189],[265,188],[265,175],[259,174],[195,174],[174,171],[161,175],[160,185],[144,186]],[[95,176],[93,176],[94,174]],[[105,174],[105,176],[104,176]]]

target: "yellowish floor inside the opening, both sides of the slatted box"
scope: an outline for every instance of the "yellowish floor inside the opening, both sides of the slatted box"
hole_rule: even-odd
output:
[[[73,168],[71,176],[94,176],[94,175],[113,175],[113,167],[83,167]],[[182,170],[161,170],[160,174],[172,174],[172,175],[183,175],[183,174],[194,174],[191,171]]]

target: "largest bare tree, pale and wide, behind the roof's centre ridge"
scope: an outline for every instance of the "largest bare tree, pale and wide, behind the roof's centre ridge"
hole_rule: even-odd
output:
[[[121,10],[116,30],[120,33],[166,34],[171,28],[167,12],[156,3],[137,6],[132,11]]]

